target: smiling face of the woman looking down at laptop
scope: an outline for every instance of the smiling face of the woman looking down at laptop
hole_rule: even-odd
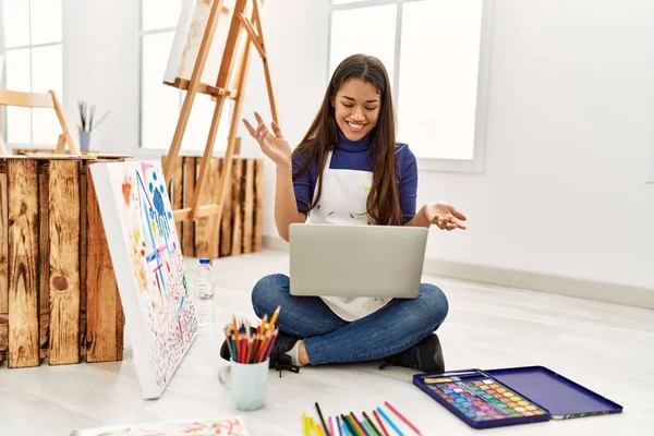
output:
[[[331,105],[336,123],[346,137],[359,141],[377,124],[382,95],[372,83],[350,78],[343,82]]]

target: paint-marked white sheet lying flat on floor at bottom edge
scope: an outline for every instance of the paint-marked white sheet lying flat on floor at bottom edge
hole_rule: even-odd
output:
[[[241,417],[177,421],[75,431],[71,436],[250,436]]]

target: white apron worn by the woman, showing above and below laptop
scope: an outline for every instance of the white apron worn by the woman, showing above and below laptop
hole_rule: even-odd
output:
[[[323,170],[320,201],[308,213],[306,225],[362,225],[372,218],[366,214],[366,202],[373,184],[371,171],[330,169],[331,152]],[[317,194],[317,182],[314,199]],[[371,222],[373,223],[373,222]],[[352,322],[367,316],[390,302],[382,298],[320,296],[331,311],[344,320]]]

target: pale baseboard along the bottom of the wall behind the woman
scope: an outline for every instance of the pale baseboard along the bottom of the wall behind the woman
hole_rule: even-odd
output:
[[[264,235],[264,247],[288,252],[289,244],[278,237]],[[654,289],[581,280],[540,272],[494,268],[459,262],[425,259],[423,271],[435,276],[530,289],[580,299],[654,308]]]

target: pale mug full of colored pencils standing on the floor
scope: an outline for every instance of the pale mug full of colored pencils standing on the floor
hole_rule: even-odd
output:
[[[229,365],[220,368],[218,379],[231,390],[238,410],[259,410],[266,403],[269,358],[279,334],[275,327],[279,310],[277,307],[270,323],[266,323],[267,316],[264,316],[258,326],[251,326],[244,320],[237,323],[233,317],[232,323],[225,327],[231,359]],[[223,378],[228,367],[231,382]]]

